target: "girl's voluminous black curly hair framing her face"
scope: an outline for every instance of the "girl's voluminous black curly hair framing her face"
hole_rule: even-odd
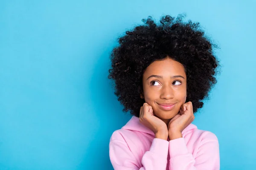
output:
[[[142,77],[145,69],[154,61],[171,57],[180,62],[187,77],[187,98],[191,101],[193,112],[202,108],[203,100],[217,82],[216,68],[219,61],[212,48],[218,48],[204,36],[199,23],[191,20],[184,22],[183,14],[176,19],[170,15],[161,17],[157,26],[151,16],[132,31],[126,31],[118,38],[119,46],[111,52],[111,69],[108,79],[114,80],[115,95],[124,105],[122,111],[131,111],[140,116],[140,107],[145,102],[140,98],[143,94]]]

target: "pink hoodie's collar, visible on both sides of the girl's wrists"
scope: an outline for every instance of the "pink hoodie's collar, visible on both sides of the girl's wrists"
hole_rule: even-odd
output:
[[[135,131],[154,135],[154,132],[150,130],[148,127],[141,124],[140,118],[136,116],[132,116],[131,119],[126,123],[126,125],[122,127],[122,129],[135,130]],[[197,129],[197,126],[191,123],[182,131],[182,134],[184,135],[187,131],[192,129]]]

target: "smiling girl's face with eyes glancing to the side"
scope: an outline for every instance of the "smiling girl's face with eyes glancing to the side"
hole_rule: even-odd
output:
[[[141,98],[152,106],[157,117],[172,119],[186,102],[186,73],[183,65],[169,57],[151,63],[143,74]],[[175,105],[163,108],[161,105],[166,103]]]

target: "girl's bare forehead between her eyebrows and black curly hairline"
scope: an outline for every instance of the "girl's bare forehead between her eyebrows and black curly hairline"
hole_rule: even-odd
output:
[[[162,61],[154,61],[145,70],[144,76],[152,74],[165,76],[186,76],[183,65],[173,59],[166,58]]]

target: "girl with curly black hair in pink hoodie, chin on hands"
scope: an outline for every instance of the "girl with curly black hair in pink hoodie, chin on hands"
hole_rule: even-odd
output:
[[[217,137],[191,123],[219,64],[199,23],[183,17],[167,15],[157,25],[149,16],[111,53],[108,78],[133,115],[110,139],[115,170],[220,169]]]

